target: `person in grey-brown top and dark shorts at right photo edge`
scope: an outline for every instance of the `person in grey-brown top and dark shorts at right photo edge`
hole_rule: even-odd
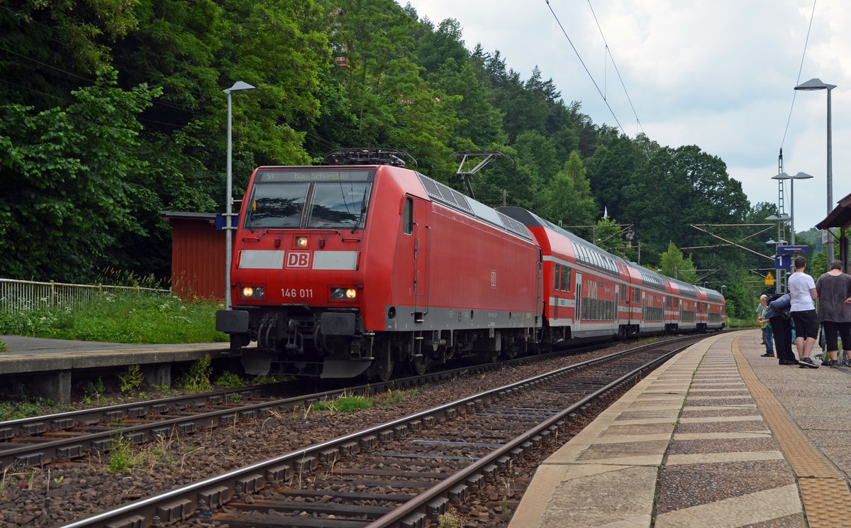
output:
[[[837,358],[842,338],[845,359],[851,355],[851,275],[842,273],[842,261],[832,261],[831,271],[823,274],[815,283],[819,295],[819,320],[825,330],[827,353],[831,355],[831,367],[840,366]]]

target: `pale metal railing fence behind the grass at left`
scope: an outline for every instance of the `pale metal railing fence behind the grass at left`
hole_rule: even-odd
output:
[[[0,313],[15,313],[54,308],[83,307],[97,301],[105,293],[138,291],[162,295],[169,290],[156,290],[138,286],[110,286],[106,284],[42,283],[31,280],[0,278]]]

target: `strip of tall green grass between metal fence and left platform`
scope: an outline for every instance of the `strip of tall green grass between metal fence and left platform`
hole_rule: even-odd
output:
[[[213,301],[186,302],[134,290],[110,292],[86,307],[0,314],[0,335],[134,344],[227,341],[225,334],[215,331],[217,309]]]

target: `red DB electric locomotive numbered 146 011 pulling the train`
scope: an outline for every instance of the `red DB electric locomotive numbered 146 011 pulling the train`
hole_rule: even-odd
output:
[[[233,307],[216,314],[247,373],[387,379],[398,364],[423,372],[534,344],[540,249],[526,227],[397,151],[324,163],[260,167],[248,183]]]

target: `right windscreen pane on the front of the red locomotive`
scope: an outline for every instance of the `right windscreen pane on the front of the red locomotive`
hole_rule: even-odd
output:
[[[316,184],[307,227],[357,229],[367,217],[371,184],[335,181]]]

